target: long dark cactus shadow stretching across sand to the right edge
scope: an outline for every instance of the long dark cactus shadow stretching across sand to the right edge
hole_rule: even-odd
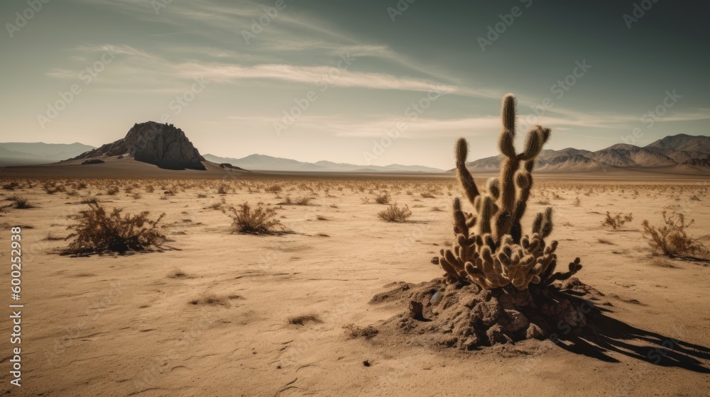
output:
[[[569,297],[571,300],[581,298]],[[677,367],[710,374],[710,348],[657,332],[642,330],[612,318],[597,306],[588,313],[587,327],[579,335],[553,340],[562,349],[604,362],[619,362],[610,353],[623,354],[660,367]]]

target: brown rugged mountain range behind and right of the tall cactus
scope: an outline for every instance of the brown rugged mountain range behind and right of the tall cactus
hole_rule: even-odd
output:
[[[502,155],[467,162],[474,172],[493,172],[500,167]],[[645,147],[618,143],[606,149],[589,150],[567,147],[542,150],[535,169],[547,172],[599,171],[608,168],[643,169],[660,167],[709,167],[710,137],[703,135],[671,135]],[[450,171],[453,171],[450,170]]]

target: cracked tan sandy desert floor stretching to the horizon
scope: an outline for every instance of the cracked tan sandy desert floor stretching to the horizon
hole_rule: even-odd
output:
[[[368,303],[388,284],[442,275],[430,259],[453,237],[449,209],[461,192],[451,176],[86,179],[83,189],[56,180],[66,190],[55,194],[45,181],[19,181],[15,191],[0,190],[0,200],[21,195],[35,205],[0,217],[2,257],[11,226],[23,226],[25,249],[21,389],[9,386],[6,315],[0,329],[1,379],[13,396],[710,395],[710,267],[652,255],[641,228],[643,219],[660,224],[664,210],[682,211],[695,219],[689,233],[710,245],[707,179],[535,180],[524,225],[549,201],[559,257],[581,257],[577,276],[621,322],[597,357],[549,340],[461,352],[344,329],[406,311]],[[110,186],[119,192],[107,194]],[[407,222],[378,219],[386,206],[374,198],[383,191],[409,206]],[[67,216],[89,192],[106,208],[165,212],[173,249],[58,255]],[[286,196],[312,201],[278,205]],[[232,234],[222,200],[261,201],[295,233]],[[633,213],[633,221],[611,230],[602,226],[606,211]],[[7,289],[9,271],[2,267]],[[639,358],[649,352],[659,364]]]

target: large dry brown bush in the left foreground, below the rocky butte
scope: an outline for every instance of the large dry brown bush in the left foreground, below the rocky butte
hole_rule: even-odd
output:
[[[62,252],[65,255],[91,255],[103,252],[146,251],[160,247],[165,242],[165,235],[160,233],[158,223],[163,215],[155,220],[148,218],[148,211],[137,215],[122,214],[114,208],[108,213],[102,206],[90,203],[89,209],[80,211],[70,218],[76,223],[68,229],[74,232],[67,240],[74,238]]]

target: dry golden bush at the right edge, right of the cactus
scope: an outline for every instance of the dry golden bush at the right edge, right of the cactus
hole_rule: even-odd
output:
[[[648,245],[656,252],[667,257],[707,256],[708,252],[697,238],[689,237],[685,231],[695,220],[686,222],[682,213],[673,212],[667,215],[663,211],[663,225],[651,226],[648,220],[643,220],[643,237],[648,239]]]

